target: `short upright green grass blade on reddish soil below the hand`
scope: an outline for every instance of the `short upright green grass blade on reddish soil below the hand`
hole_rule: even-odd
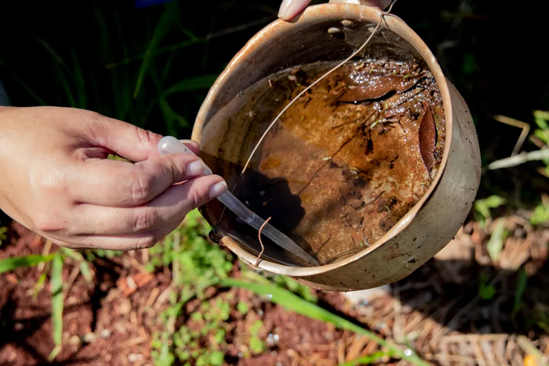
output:
[[[49,358],[53,361],[61,350],[63,337],[63,257],[61,254],[56,254],[53,258],[49,285],[52,292],[53,342],[55,343],[55,348]]]

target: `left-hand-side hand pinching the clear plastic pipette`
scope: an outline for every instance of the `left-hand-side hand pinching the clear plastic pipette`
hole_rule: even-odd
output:
[[[160,138],[86,110],[0,107],[0,208],[61,246],[153,246],[227,189],[192,154],[160,156]]]

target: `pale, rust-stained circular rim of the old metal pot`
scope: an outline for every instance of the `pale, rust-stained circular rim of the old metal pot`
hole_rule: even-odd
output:
[[[203,104],[198,111],[197,119],[195,120],[192,139],[195,141],[199,140],[200,132],[203,129],[204,123],[206,122],[203,118],[210,109],[214,99],[220,93],[221,89],[225,87],[225,84],[229,78],[229,75],[232,74],[234,69],[238,69],[238,65],[250,57],[254,51],[261,47],[262,42],[266,39],[281,37],[285,32],[288,32],[292,29],[295,22],[315,22],[321,20],[333,20],[333,19],[349,19],[355,21],[375,21],[379,22],[382,16],[382,11],[374,7],[366,7],[365,5],[358,4],[349,4],[349,3],[324,3],[317,4],[307,7],[304,12],[298,15],[294,20],[287,22],[282,19],[277,19],[259,32],[257,32],[250,40],[245,44],[245,46],[240,49],[240,51],[233,57],[229,62],[225,70],[217,78],[214,85],[210,88],[208,95],[204,99]],[[394,227],[389,229],[381,238],[379,238],[371,246],[363,249],[355,255],[352,255],[344,260],[324,264],[322,266],[316,267],[293,267],[287,266],[285,264],[278,264],[271,262],[267,259],[261,259],[257,268],[263,269],[276,274],[289,275],[290,277],[307,277],[310,275],[322,274],[333,269],[346,266],[352,262],[361,260],[361,258],[371,254],[374,250],[378,250],[381,246],[386,244],[390,239],[393,239],[397,234],[401,233],[406,227],[413,221],[417,213],[422,209],[425,202],[429,200],[432,196],[434,190],[438,186],[442,174],[446,168],[446,164],[450,154],[450,145],[452,143],[452,125],[453,125],[453,111],[452,103],[450,98],[450,91],[447,85],[446,77],[442,72],[438,61],[431,50],[427,47],[427,44],[414,32],[402,19],[396,15],[387,15],[385,20],[382,22],[382,27],[388,28],[391,31],[396,32],[399,36],[404,38],[408,43],[414,47],[417,52],[424,59],[425,63],[429,66],[430,71],[435,77],[436,83],[439,87],[439,91],[442,95],[442,105],[444,106],[444,116],[445,116],[445,144],[444,144],[444,154],[442,155],[442,161],[440,162],[439,170],[436,172],[436,175],[433,179],[432,184],[430,185],[427,192],[422,196],[421,199],[402,217]],[[234,252],[240,259],[248,264],[255,266],[257,256],[251,254],[243,247],[241,247],[237,240],[229,237],[228,235],[221,239],[223,245],[227,246],[229,250]]]

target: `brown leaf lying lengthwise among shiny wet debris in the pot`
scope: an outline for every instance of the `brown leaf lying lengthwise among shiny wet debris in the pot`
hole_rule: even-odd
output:
[[[399,75],[374,76],[360,85],[350,85],[339,98],[340,102],[360,102],[377,99],[396,91],[402,93],[416,85],[421,76],[402,77]]]

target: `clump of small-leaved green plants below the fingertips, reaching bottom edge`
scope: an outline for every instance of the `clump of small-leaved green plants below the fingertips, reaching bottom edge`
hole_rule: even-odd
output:
[[[219,346],[225,341],[228,329],[229,303],[218,297],[211,304],[205,298],[204,290],[228,277],[233,268],[233,256],[208,241],[210,230],[198,210],[193,210],[175,232],[149,250],[147,268],[150,271],[155,267],[171,266],[173,272],[170,307],[160,314],[166,328],[173,328],[175,319],[189,300],[194,297],[202,300],[198,310],[191,314],[193,329],[183,325],[154,335],[152,354],[157,366],[176,362],[216,366],[225,360]],[[214,349],[204,347],[204,340]]]

